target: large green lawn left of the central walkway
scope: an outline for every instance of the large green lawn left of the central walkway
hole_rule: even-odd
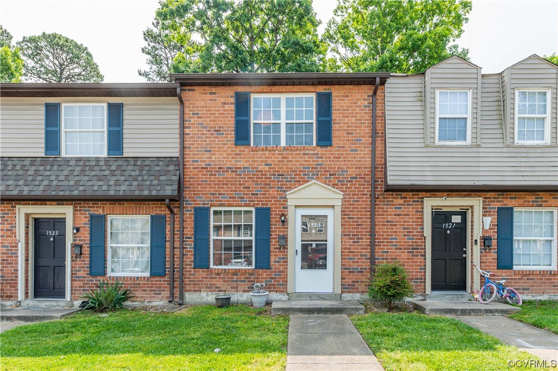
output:
[[[81,312],[2,333],[0,369],[283,369],[287,331],[288,317],[247,306]]]

